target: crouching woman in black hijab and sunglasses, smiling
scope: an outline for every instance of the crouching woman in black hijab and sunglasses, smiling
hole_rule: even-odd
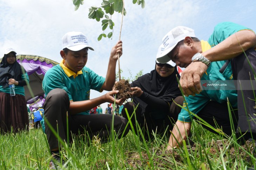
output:
[[[129,116],[132,116],[135,109],[136,120],[142,129],[144,138],[149,140],[152,132],[168,134],[177,121],[181,108],[173,100],[182,105],[183,97],[178,88],[177,78],[180,75],[174,62],[167,64],[156,62],[155,69],[150,73],[142,75],[133,81],[131,89],[133,91],[133,101],[124,105]],[[127,118],[125,109],[122,110],[123,117]],[[131,118],[135,132],[135,116]],[[169,135],[169,134],[168,134]]]

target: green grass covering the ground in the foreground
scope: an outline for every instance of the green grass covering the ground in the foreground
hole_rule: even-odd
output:
[[[68,169],[246,169],[255,164],[250,146],[224,139],[197,123],[191,134],[195,145],[184,141],[183,147],[171,151],[164,151],[169,138],[166,135],[141,142],[130,131],[126,137],[111,138],[104,144],[96,137],[76,137],[61,155],[68,162]],[[0,135],[0,145],[0,169],[48,169],[51,155],[41,130]]]

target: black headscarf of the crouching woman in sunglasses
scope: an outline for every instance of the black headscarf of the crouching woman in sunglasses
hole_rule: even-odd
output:
[[[160,76],[155,69],[150,73],[144,74],[137,80],[131,83],[131,87],[139,87],[143,92],[146,92],[154,97],[161,98],[168,103],[172,103],[173,99],[177,96],[181,96],[181,91],[178,88],[177,78],[180,79],[177,66],[174,68],[174,72],[168,77]],[[134,97],[133,103],[137,105],[140,103],[142,113],[145,112],[147,103],[143,102],[140,98]]]

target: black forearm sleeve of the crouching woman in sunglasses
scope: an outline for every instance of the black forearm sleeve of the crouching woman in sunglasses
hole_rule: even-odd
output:
[[[150,106],[153,107],[160,107],[163,109],[168,109],[169,108],[169,103],[164,101],[161,98],[154,97],[146,92],[143,92],[142,95],[139,97],[143,102],[147,103]]]

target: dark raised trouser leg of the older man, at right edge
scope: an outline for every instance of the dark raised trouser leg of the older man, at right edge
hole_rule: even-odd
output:
[[[246,56],[252,66],[254,72],[256,72],[256,51],[254,49],[249,49],[245,51]],[[255,83],[255,76],[249,65],[249,62],[244,55],[240,54],[231,60],[232,72],[234,80],[252,80]],[[240,86],[238,84],[237,86]],[[238,106],[238,126],[237,132],[252,132],[256,134],[256,109],[255,107],[255,97],[256,86],[254,85],[253,90],[237,90],[237,106]],[[243,89],[243,87],[242,87]],[[254,92],[254,93],[253,93]],[[243,103],[244,99],[244,103]]]

